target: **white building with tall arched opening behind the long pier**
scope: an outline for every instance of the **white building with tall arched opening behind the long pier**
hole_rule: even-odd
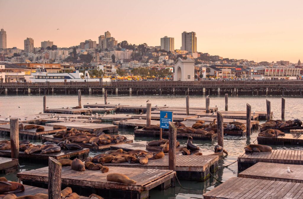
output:
[[[195,81],[195,61],[178,58],[175,62],[174,81]]]

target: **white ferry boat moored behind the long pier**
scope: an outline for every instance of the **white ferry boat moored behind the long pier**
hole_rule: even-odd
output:
[[[27,75],[25,75],[27,76]],[[88,71],[85,74],[78,70],[72,73],[48,73],[46,69],[37,68],[28,79],[29,82],[85,82],[85,81],[100,81],[99,78],[90,78]]]

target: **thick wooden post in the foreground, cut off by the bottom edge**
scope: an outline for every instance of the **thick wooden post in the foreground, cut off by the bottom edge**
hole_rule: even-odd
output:
[[[48,158],[48,199],[61,199],[62,165],[55,158]]]

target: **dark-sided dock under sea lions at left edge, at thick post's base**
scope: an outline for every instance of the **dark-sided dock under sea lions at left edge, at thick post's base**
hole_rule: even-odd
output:
[[[19,159],[21,159],[22,161],[29,161],[29,162],[48,163],[48,157],[53,157],[57,160],[74,159],[74,158],[83,159],[88,157],[88,153],[89,153],[88,148],[82,148],[77,150],[61,149],[60,152],[48,153],[48,154],[40,154],[40,152],[33,154],[25,154],[24,151],[19,151]],[[0,150],[0,157],[11,157],[11,150],[10,149]]]

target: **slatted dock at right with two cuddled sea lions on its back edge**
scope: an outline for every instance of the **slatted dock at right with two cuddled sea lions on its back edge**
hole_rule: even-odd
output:
[[[243,171],[257,162],[303,164],[303,153],[296,150],[244,153],[238,157],[238,170]]]

